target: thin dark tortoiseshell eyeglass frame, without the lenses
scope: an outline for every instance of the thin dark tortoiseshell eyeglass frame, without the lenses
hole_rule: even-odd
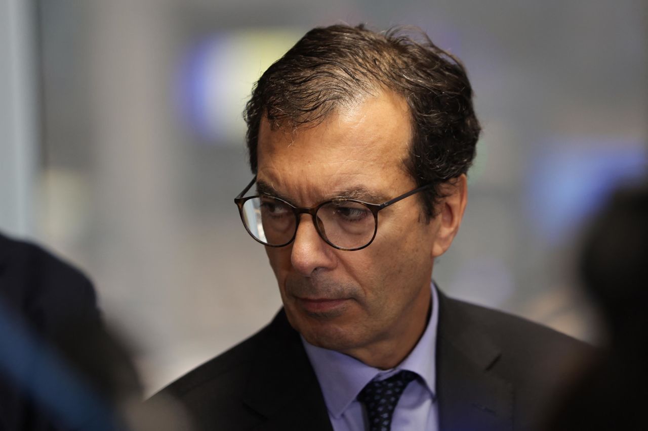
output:
[[[248,193],[248,190],[253,186],[253,184],[255,182],[257,182],[257,176],[256,175],[254,176],[252,181],[249,182],[248,186],[246,186],[246,188],[244,188],[243,191],[238,193],[237,197],[234,198],[234,202],[238,206],[238,215],[241,217],[241,221],[243,222],[243,226],[248,231],[248,234],[253,239],[255,239],[255,241],[257,241],[257,242],[259,242],[259,243],[261,243],[263,245],[266,245],[268,247],[286,247],[286,245],[292,243],[292,241],[294,241],[295,237],[297,236],[297,228],[299,228],[299,220],[301,219],[301,217],[299,217],[299,215],[300,214],[310,214],[310,216],[313,218],[313,225],[315,227],[315,230],[318,232],[319,237],[321,239],[323,239],[325,241],[325,243],[327,243],[328,245],[330,245],[334,249],[345,250],[345,251],[362,250],[365,247],[369,247],[369,245],[371,245],[371,243],[373,243],[373,240],[376,238],[376,232],[378,232],[378,211],[384,210],[384,208],[387,208],[391,204],[395,204],[395,203],[397,203],[399,201],[402,201],[402,199],[405,199],[406,197],[410,197],[411,195],[422,192],[423,190],[426,190],[426,189],[434,186],[434,184],[425,184],[424,186],[417,187],[414,190],[410,190],[407,193],[403,193],[402,195],[397,196],[397,197],[395,197],[393,199],[390,199],[389,201],[384,202],[382,204],[373,204],[373,203],[368,203],[368,202],[364,202],[364,201],[358,201],[357,199],[343,199],[344,202],[354,202],[354,203],[359,203],[359,204],[362,204],[362,205],[366,206],[367,208],[369,208],[369,210],[371,210],[371,214],[373,214],[373,219],[374,219],[373,236],[371,237],[369,242],[366,243],[365,245],[363,245],[362,247],[355,247],[353,249],[347,249],[346,247],[340,247],[338,245],[335,245],[335,244],[331,243],[329,241],[329,239],[327,239],[326,236],[321,232],[321,230],[319,230],[319,223],[317,221],[317,213],[318,213],[319,208],[321,208],[322,206],[325,206],[327,204],[330,204],[332,202],[335,202],[335,201],[337,201],[339,199],[329,199],[329,201],[325,201],[323,203],[320,203],[320,204],[318,204],[318,206],[314,206],[313,208],[297,208],[293,204],[291,204],[289,202],[286,202],[283,199],[279,199],[279,197],[267,196],[267,197],[272,197],[272,199],[276,199],[277,201],[283,202],[284,204],[288,205],[288,207],[292,208],[292,211],[293,211],[293,213],[295,215],[295,233],[292,235],[292,238],[290,238],[290,240],[288,240],[284,244],[279,244],[279,245],[273,245],[273,244],[264,243],[259,238],[254,236],[254,234],[252,234],[252,232],[249,231],[248,224],[245,222],[245,218],[243,216],[243,205],[247,201],[249,201],[249,199],[255,199],[256,197],[263,197],[263,196],[262,195],[253,195],[253,196],[243,197],[243,195],[245,195],[245,193]]]

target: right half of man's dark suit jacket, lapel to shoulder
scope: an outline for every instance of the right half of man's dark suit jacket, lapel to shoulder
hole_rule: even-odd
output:
[[[594,353],[592,346],[525,318],[439,296],[437,374],[446,424],[471,417],[474,409],[462,403],[468,394],[481,394],[481,403],[492,402],[512,429],[533,429],[575,366]]]

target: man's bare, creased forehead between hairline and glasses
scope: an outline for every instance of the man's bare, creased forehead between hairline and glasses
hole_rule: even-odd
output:
[[[329,197],[361,187],[391,192],[413,184],[405,169],[411,121],[403,98],[391,93],[343,106],[316,126],[259,129],[257,177],[290,195]]]

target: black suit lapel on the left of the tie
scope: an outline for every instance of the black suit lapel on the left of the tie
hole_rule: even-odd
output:
[[[332,431],[317,377],[283,310],[259,346],[244,403],[266,419],[258,431]]]

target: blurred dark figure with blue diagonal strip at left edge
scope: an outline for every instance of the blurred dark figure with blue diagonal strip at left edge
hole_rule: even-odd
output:
[[[87,277],[0,234],[0,430],[174,429],[153,426],[156,408],[168,402],[151,406],[154,415],[142,398],[128,351],[104,325]]]

